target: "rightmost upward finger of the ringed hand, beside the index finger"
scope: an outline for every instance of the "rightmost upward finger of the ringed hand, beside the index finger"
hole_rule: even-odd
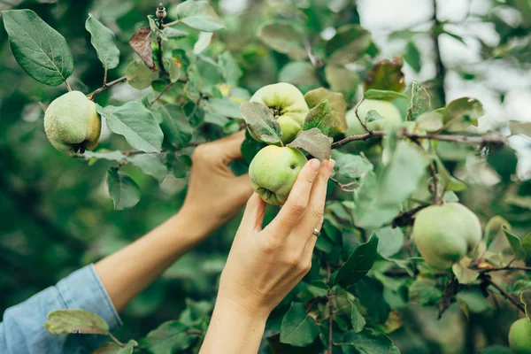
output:
[[[313,183],[312,194],[310,195],[310,202],[307,211],[304,212],[304,217],[296,227],[296,232],[293,233],[295,237],[300,237],[301,242],[313,237],[313,230],[317,227],[320,229],[322,225],[323,214],[325,212],[325,202],[327,199],[327,185],[330,173],[334,169],[335,161],[329,160],[323,162],[319,168],[319,173],[315,182]],[[319,226],[319,227],[318,227]]]

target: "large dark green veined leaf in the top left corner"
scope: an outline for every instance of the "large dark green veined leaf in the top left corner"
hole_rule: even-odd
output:
[[[58,86],[73,73],[65,37],[31,10],[2,12],[13,56],[24,71],[45,85]]]

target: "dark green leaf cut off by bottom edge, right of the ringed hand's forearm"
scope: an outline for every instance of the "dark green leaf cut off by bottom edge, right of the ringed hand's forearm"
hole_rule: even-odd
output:
[[[391,354],[392,347],[393,341],[387,335],[367,328],[359,333],[347,332],[342,341],[342,350],[346,354]]]

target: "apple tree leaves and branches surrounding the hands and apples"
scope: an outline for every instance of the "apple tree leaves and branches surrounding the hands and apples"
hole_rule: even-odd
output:
[[[166,4],[165,17],[157,16],[157,8],[134,1],[96,3],[92,5],[95,13],[84,19],[84,29],[76,5],[68,12],[76,19],[69,24],[74,33],[86,29],[85,42],[67,41],[38,11],[2,12],[12,58],[24,72],[40,84],[59,87],[51,91],[55,96],[71,86],[84,90],[96,102],[106,125],[106,140],[95,151],[58,156],[46,146],[46,153],[28,153],[30,166],[37,164],[35,158],[53,156],[48,167],[41,166],[42,171],[72,186],[80,182],[78,190],[58,190],[34,204],[31,198],[38,189],[22,186],[7,173],[0,176],[9,189],[5,196],[34,218],[37,227],[54,234],[60,244],[58,254],[66,253],[56,266],[76,266],[70,252],[85,250],[85,260],[90,261],[127,242],[112,237],[82,240],[58,225],[75,232],[105,217],[117,218],[118,224],[99,233],[113,235],[122,223],[142,219],[144,211],[150,211],[147,223],[153,226],[178,207],[163,195],[185,189],[190,154],[201,143],[245,127],[261,136],[258,142],[247,135],[243,159],[232,166],[235,173],[245,173],[266,143],[281,142],[273,115],[248,100],[266,84],[287,81],[304,93],[310,107],[304,130],[289,146],[315,158],[334,158],[336,167],[312,270],[273,311],[260,352],[508,352],[511,321],[518,313],[531,318],[531,185],[516,175],[518,158],[509,135],[528,138],[531,123],[509,121],[484,132],[477,127],[485,112],[473,92],[446,103],[441,77],[406,85],[404,65],[419,72],[424,64],[417,48],[419,38],[449,35],[466,43],[450,32],[448,23],[435,16],[430,33],[408,29],[389,35],[389,41],[404,42],[404,50],[386,59],[380,58],[372,34],[361,27],[356,6],[348,1],[286,2],[280,5],[282,11],[258,3],[257,8],[264,11],[219,16],[216,4],[188,0]],[[496,12],[501,5],[494,4],[491,14],[479,20],[494,24],[501,41],[492,46],[479,40],[481,54],[485,60],[516,58],[519,65],[528,65],[526,30],[531,27],[531,7],[525,1],[507,3],[504,6],[520,12],[522,20],[518,26],[508,26]],[[124,25],[136,12],[148,16]],[[44,13],[50,18],[49,12]],[[57,20],[52,22],[65,30]],[[325,29],[333,33],[326,39],[319,35]],[[99,83],[94,74],[74,75],[86,70],[78,69],[74,58],[88,55],[89,43],[95,50],[91,55],[101,64]],[[81,63],[87,65],[82,58]],[[474,80],[473,73],[465,69],[461,73],[466,80]],[[38,89],[25,87],[3,100],[3,116],[10,112],[5,108],[9,101],[15,106],[27,104],[19,114],[42,119],[38,106],[35,113],[35,105],[27,103],[50,98],[40,84]],[[136,98],[120,100],[123,88]],[[503,93],[500,96],[503,100]],[[370,111],[366,117],[357,117],[366,128],[364,134],[345,135],[347,110],[357,112],[358,104],[368,99],[396,104],[403,123],[373,131],[366,124],[384,118]],[[16,153],[9,145],[15,139],[29,146],[38,144],[31,136],[42,140],[42,127],[27,126],[33,129],[28,132],[20,127],[26,123],[3,124],[16,135],[0,144],[7,157],[0,166],[16,171]],[[90,179],[84,180],[79,172],[69,176],[75,169],[91,171]],[[33,179],[37,181],[36,176]],[[105,197],[101,189],[96,190],[102,179],[108,192]],[[97,198],[89,196],[89,191]],[[69,193],[86,195],[88,200],[76,205],[77,212],[60,201],[61,219],[50,222],[45,209],[51,210],[51,204]],[[120,212],[112,212],[105,198],[112,199]],[[412,242],[415,213],[430,204],[457,201],[480,216],[484,247],[448,271],[436,271],[423,262]],[[155,215],[161,204],[166,212]],[[98,207],[106,212],[89,212]],[[276,212],[278,208],[268,208],[266,219]],[[237,220],[217,238],[225,245],[221,247],[225,253],[183,258],[165,273],[164,281],[156,282],[129,306],[126,326],[128,317],[149,317],[158,311],[159,303],[174,301],[174,294],[165,298],[165,292],[170,294],[173,284],[181,281],[183,300],[179,311],[170,311],[173,319],[166,317],[142,334],[131,331],[135,335],[124,335],[121,342],[103,319],[81,310],[51,312],[43,325],[57,335],[110,335],[112,340],[96,353],[197,352],[235,225]],[[17,264],[20,254],[2,247],[10,262]],[[207,274],[201,280],[195,279],[199,259],[204,266],[198,272]],[[13,269],[24,273],[24,265],[18,267]],[[489,326],[492,322],[500,325]]]

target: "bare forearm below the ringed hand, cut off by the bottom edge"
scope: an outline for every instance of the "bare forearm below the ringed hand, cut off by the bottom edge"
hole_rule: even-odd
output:
[[[200,354],[256,354],[267,317],[218,297]]]

